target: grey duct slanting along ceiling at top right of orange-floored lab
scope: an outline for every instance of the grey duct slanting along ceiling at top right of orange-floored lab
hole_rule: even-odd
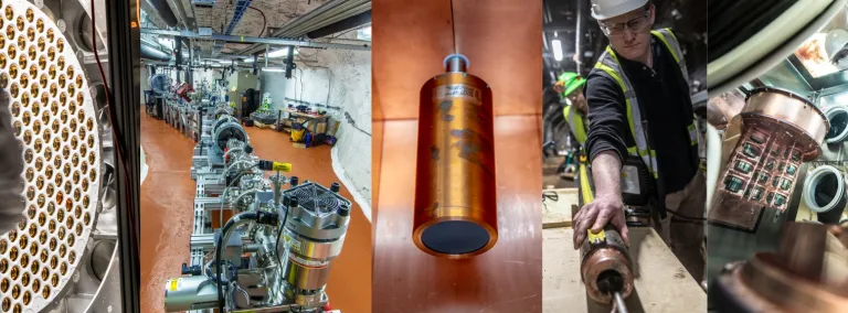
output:
[[[271,34],[272,37],[297,39],[307,33],[340,22],[344,19],[368,12],[371,10],[371,0],[331,0],[297,18],[279,30]],[[253,54],[264,48],[264,45],[254,44],[239,54]]]

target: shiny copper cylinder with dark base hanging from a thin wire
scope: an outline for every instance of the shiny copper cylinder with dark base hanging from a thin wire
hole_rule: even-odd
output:
[[[413,240],[452,259],[498,240],[491,90],[451,55],[421,89]]]

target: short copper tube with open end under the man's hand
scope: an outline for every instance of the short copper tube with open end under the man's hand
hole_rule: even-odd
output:
[[[611,303],[614,292],[625,299],[630,295],[633,267],[618,231],[607,227],[598,235],[589,236],[580,248],[580,276],[589,298]]]

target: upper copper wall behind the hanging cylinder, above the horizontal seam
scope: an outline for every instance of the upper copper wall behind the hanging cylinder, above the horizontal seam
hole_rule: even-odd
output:
[[[374,119],[416,118],[421,84],[444,72],[451,53],[470,58],[498,93],[495,116],[541,114],[528,97],[542,84],[542,1],[375,0],[372,8]]]

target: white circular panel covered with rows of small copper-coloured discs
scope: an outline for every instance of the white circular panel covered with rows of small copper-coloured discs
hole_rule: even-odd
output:
[[[94,102],[67,39],[23,0],[0,4],[0,88],[23,142],[25,219],[0,236],[0,312],[39,312],[83,259],[98,203]]]

